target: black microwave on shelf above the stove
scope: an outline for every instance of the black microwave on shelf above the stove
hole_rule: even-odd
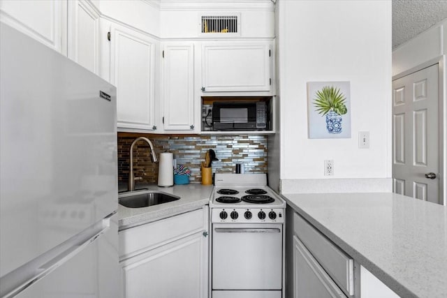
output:
[[[214,131],[265,131],[269,119],[265,101],[214,101]]]

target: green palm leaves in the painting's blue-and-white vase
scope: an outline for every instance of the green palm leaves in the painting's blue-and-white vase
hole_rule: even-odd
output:
[[[318,114],[328,114],[333,111],[339,115],[344,115],[348,112],[345,105],[346,96],[339,88],[333,86],[324,86],[321,90],[316,91],[316,98],[314,98],[314,105]]]

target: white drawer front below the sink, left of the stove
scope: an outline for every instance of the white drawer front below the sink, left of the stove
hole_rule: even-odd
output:
[[[118,233],[119,260],[207,230],[207,207],[139,225]]]

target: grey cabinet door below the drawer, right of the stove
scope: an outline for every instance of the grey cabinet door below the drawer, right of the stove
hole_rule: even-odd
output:
[[[346,297],[304,244],[293,237],[293,297]]]

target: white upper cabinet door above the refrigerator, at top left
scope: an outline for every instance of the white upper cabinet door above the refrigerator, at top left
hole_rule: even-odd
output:
[[[62,54],[66,54],[66,12],[66,1],[0,1],[1,22]]]

